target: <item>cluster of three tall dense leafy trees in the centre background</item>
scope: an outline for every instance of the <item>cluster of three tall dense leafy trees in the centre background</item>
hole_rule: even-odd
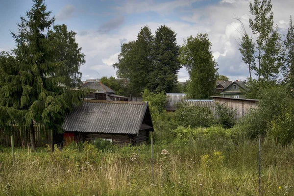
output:
[[[176,33],[166,25],[159,26],[154,35],[144,26],[135,41],[122,44],[113,67],[119,78],[128,80],[129,92],[141,96],[144,89],[153,93],[181,91],[177,73],[184,66],[190,76],[185,89],[188,96],[209,98],[218,73],[208,35],[190,36],[184,42],[182,47],[177,45]]]

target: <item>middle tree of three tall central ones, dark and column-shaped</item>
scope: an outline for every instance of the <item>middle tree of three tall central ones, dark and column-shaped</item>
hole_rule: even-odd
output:
[[[166,25],[157,28],[153,45],[152,73],[148,89],[152,92],[172,92],[181,68],[176,33]]]

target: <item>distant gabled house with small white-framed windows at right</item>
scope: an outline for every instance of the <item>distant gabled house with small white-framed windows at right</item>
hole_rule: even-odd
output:
[[[247,90],[248,83],[234,81],[230,85],[228,85],[223,91],[221,91],[221,95],[224,98],[245,98],[242,91]]]

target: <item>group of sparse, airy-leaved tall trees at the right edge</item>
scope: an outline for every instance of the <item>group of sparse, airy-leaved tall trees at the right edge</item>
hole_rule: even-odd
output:
[[[274,25],[271,0],[249,2],[249,27],[252,36],[242,25],[239,50],[249,71],[247,98],[259,98],[267,86],[287,85],[294,88],[294,27],[290,16],[289,29],[285,39]],[[253,73],[256,78],[253,78]]]

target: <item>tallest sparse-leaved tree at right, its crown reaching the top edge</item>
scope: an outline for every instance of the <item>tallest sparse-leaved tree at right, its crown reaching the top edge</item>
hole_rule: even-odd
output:
[[[263,77],[266,81],[276,80],[283,65],[283,49],[278,26],[273,25],[271,1],[254,0],[254,4],[249,2],[249,8],[253,17],[249,19],[249,26],[253,34],[257,35],[258,52],[258,66],[253,66],[252,69],[256,71],[258,78]]]

